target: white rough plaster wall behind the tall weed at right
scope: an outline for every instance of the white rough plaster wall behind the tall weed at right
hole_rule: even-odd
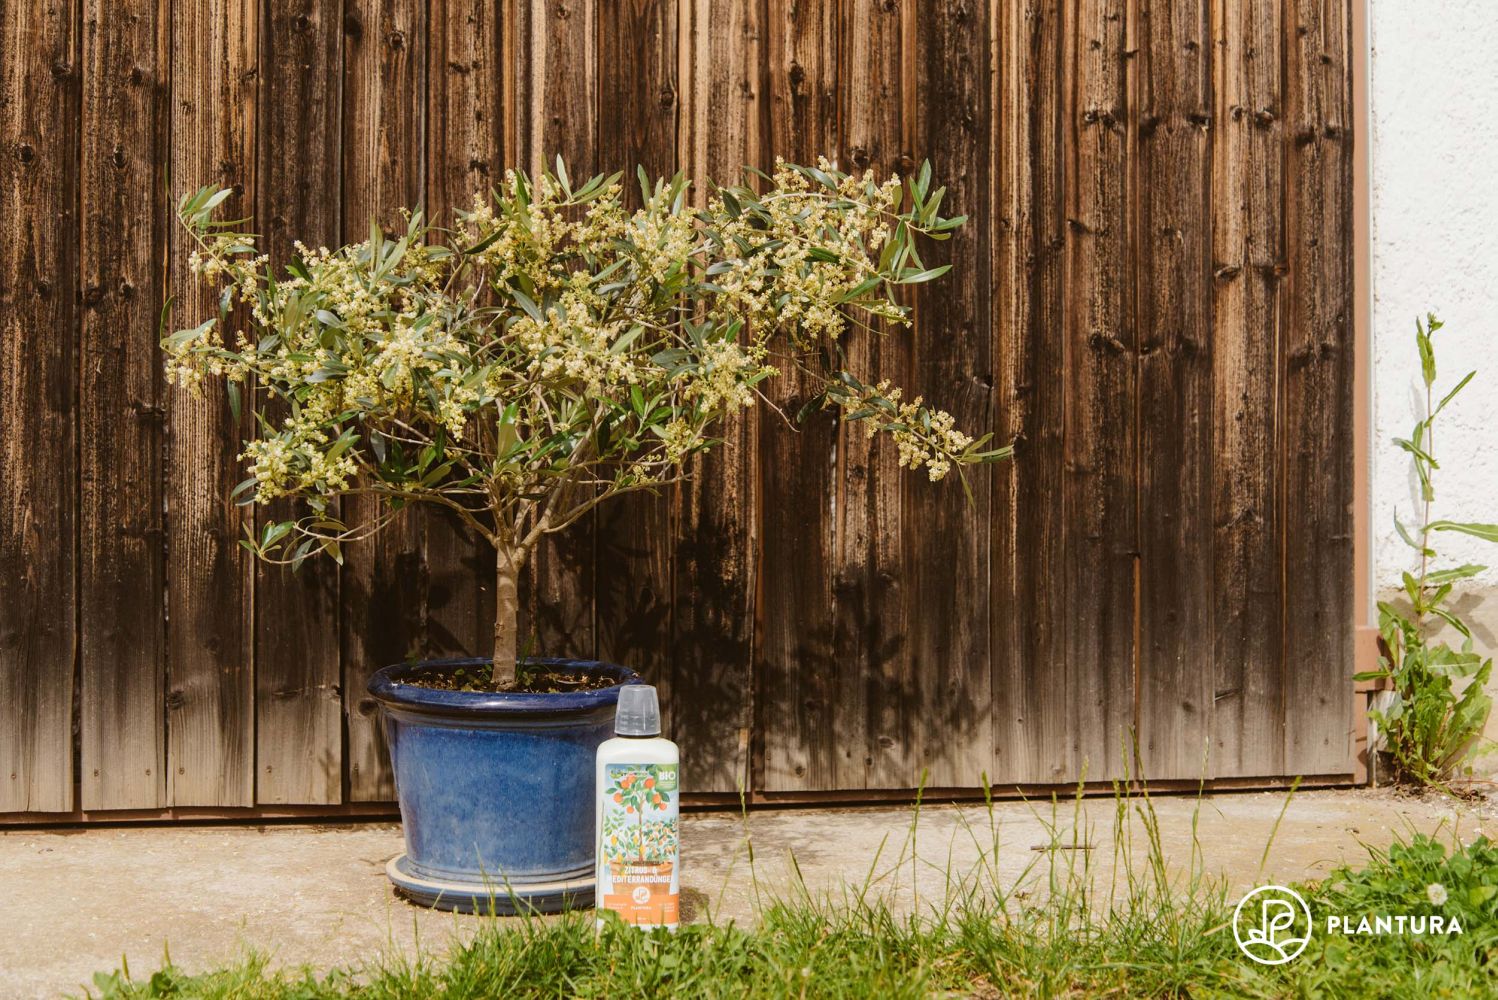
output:
[[[1369,0],[1372,46],[1374,576],[1398,585],[1416,518],[1404,452],[1423,412],[1414,319],[1435,311],[1437,388],[1477,379],[1437,424],[1435,513],[1498,521],[1498,0]],[[1443,557],[1482,563],[1498,545],[1440,534]],[[1498,602],[1485,602],[1498,603]]]

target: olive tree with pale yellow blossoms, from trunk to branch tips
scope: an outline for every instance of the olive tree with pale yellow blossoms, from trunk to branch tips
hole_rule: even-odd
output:
[[[448,507],[494,546],[493,680],[505,687],[517,581],[541,537],[679,481],[765,379],[813,374],[822,406],[887,433],[930,479],[1005,457],[833,364],[849,325],[909,322],[894,289],[947,269],[915,247],[963,222],[938,214],[929,166],[905,184],[825,162],[756,177],[761,190],[716,189],[695,208],[680,174],[652,184],[641,172],[629,211],[619,175],[574,187],[557,160],[539,177],[506,172],[452,229],[409,213],[403,234],[297,244],[285,269],[243,223],[214,217],[226,192],[184,196],[189,266],[219,289],[219,311],[163,341],[168,376],[190,389],[223,379],[237,410],[249,397],[258,433],[240,457],[241,503],[303,501],[244,545],[292,564],[342,558],[343,542],[410,503]],[[340,516],[351,494],[379,500],[369,521]]]

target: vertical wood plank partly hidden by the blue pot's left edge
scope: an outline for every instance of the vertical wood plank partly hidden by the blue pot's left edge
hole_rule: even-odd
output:
[[[425,102],[425,3],[346,0],[343,13],[343,238],[367,240],[370,220],[403,232],[401,208],[422,198],[421,115]],[[439,223],[440,225],[440,223]],[[345,500],[358,524],[376,516],[372,497]],[[419,656],[425,566],[421,513],[345,549],[342,581],[343,704],[348,789],[355,802],[395,796],[370,674]]]

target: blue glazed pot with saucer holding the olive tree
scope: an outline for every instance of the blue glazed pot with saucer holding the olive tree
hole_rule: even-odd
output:
[[[533,666],[604,674],[595,660]],[[619,686],[559,695],[448,692],[403,683],[488,660],[425,660],[370,678],[385,713],[406,853],[386,873],[401,892],[439,909],[542,912],[592,901],[593,765],[613,735]]]

